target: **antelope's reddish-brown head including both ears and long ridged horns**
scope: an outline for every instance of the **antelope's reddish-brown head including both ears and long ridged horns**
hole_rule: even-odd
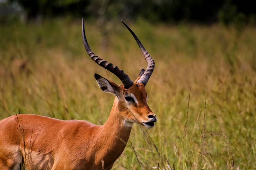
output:
[[[125,126],[132,127],[133,123],[138,123],[147,128],[152,128],[155,126],[154,122],[157,121],[157,118],[156,114],[154,114],[148,106],[148,94],[145,86],[153,73],[155,62],[135,33],[124,22],[123,24],[131,32],[148,63],[147,69],[142,69],[134,82],[123,70],[119,69],[117,66],[113,66],[112,63],[99,58],[91,51],[85,36],[84,21],[82,20],[83,43],[90,58],[99,66],[115,74],[123,83],[117,85],[95,73],[95,79],[97,80],[100,89],[104,92],[112,93],[117,97],[118,109],[120,110],[120,113],[122,113],[121,117],[124,119]]]

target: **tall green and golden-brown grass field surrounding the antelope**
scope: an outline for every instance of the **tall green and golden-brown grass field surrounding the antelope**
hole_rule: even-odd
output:
[[[146,68],[121,22],[85,24],[99,57],[133,80]],[[256,169],[255,27],[128,24],[156,62],[146,89],[159,121],[147,131],[133,126],[113,169]],[[94,73],[120,80],[87,56],[81,20],[0,24],[0,34],[0,119],[30,113],[104,124],[114,96]]]

